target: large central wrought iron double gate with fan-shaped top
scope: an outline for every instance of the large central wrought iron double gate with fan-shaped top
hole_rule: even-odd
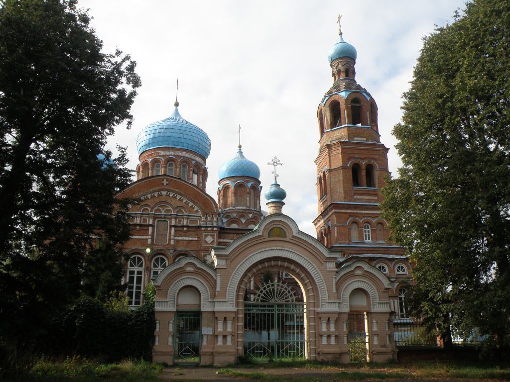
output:
[[[304,303],[286,284],[264,284],[244,303],[244,354],[261,361],[306,358]]]

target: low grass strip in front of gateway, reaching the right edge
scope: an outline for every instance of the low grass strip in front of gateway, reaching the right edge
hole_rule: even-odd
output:
[[[236,370],[238,368],[259,368],[258,371]],[[275,373],[271,368],[302,368],[317,369],[317,373]],[[327,375],[321,374],[320,370],[328,370]],[[510,367],[498,367],[488,363],[468,363],[459,361],[444,362],[415,362],[410,364],[398,363],[365,363],[339,365],[312,361],[296,361],[292,363],[268,363],[259,365],[236,365],[230,368],[220,369],[219,374],[227,374],[242,379],[257,381],[270,380],[271,382],[290,382],[292,380],[384,380],[384,379],[415,379],[426,380],[442,379],[484,379],[484,380],[510,380]]]

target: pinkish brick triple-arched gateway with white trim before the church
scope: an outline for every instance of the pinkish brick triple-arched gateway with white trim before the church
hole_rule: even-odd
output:
[[[211,260],[185,256],[154,280],[155,360],[221,365],[244,356],[349,362],[350,344],[359,338],[351,333],[355,313],[358,321],[363,317],[366,356],[394,357],[391,285],[385,275],[366,262],[344,261],[299,231],[289,216],[268,215],[253,231],[214,247]]]

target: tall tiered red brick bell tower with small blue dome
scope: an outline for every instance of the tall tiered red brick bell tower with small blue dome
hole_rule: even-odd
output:
[[[380,189],[388,171],[388,148],[379,139],[377,104],[356,82],[358,53],[344,41],[331,47],[328,60],[333,85],[317,110],[318,239],[345,256],[386,253],[387,223],[380,217]],[[367,248],[373,247],[373,248]],[[400,251],[398,251],[400,252]]]

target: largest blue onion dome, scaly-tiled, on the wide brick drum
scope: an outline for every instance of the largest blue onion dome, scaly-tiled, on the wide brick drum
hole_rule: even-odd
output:
[[[172,115],[162,121],[144,127],[136,138],[138,154],[158,147],[187,149],[207,159],[211,152],[211,140],[207,134],[191,122],[186,121],[175,103]]]

